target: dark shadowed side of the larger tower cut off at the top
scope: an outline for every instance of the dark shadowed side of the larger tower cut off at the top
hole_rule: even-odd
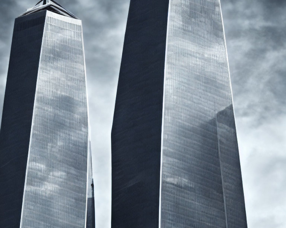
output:
[[[168,1],[131,0],[112,125],[112,227],[158,227]]]

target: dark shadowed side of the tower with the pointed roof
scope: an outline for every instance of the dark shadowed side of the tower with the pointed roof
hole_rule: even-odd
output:
[[[19,228],[46,12],[15,19],[0,131],[0,227]]]

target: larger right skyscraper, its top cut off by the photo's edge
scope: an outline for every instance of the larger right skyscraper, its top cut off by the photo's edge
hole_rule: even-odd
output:
[[[131,0],[112,126],[112,228],[246,228],[219,0]]]

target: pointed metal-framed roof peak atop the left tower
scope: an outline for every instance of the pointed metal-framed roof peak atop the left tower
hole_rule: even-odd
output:
[[[43,10],[48,10],[57,14],[64,15],[66,17],[72,17],[78,19],[78,17],[76,17],[74,14],[72,14],[71,12],[69,12],[68,10],[66,10],[53,0],[41,0],[34,7],[27,9],[27,11],[21,14],[19,17],[29,15],[32,13],[37,13]]]

